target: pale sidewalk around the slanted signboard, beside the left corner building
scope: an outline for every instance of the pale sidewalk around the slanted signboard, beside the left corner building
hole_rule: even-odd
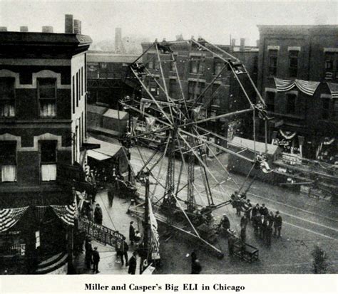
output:
[[[107,191],[98,191],[96,195],[96,203],[100,204],[103,212],[103,226],[106,226],[115,231],[119,231],[124,236],[126,236],[126,242],[129,246],[128,259],[133,254],[133,246],[130,246],[129,241],[129,224],[130,221],[134,221],[134,227],[136,230],[141,229],[141,224],[138,224],[137,219],[133,219],[130,215],[126,214],[128,210],[129,201],[126,199],[120,199],[117,196],[114,198],[113,206],[109,207],[108,205],[108,195]],[[95,204],[93,206],[95,206]],[[95,207],[93,207],[95,209]],[[141,230],[140,230],[141,231]],[[100,253],[100,263],[98,263],[98,271],[101,275],[125,275],[128,274],[128,266],[126,263],[122,266],[120,259],[117,261],[115,248],[111,246],[105,246],[101,243],[92,241],[93,248],[98,247],[98,252]],[[118,263],[117,263],[118,262]],[[78,274],[93,274],[93,270],[87,270],[85,264],[85,252],[74,257],[73,260],[74,266],[76,268],[76,273]],[[138,274],[138,269],[140,266],[140,258],[138,257],[138,265],[136,268],[136,274]],[[93,268],[93,266],[92,266]]]

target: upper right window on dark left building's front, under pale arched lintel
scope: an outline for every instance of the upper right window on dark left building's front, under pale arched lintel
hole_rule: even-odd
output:
[[[38,97],[41,117],[56,117],[56,79],[38,79]]]

